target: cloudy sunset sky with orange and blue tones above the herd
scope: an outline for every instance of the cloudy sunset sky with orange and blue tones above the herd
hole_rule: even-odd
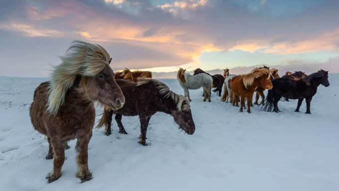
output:
[[[73,40],[113,70],[339,73],[339,0],[0,0],[0,75],[47,77]],[[246,68],[239,70],[239,68]]]

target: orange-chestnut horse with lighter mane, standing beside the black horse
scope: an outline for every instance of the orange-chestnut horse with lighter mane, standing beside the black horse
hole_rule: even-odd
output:
[[[245,98],[247,98],[247,112],[251,113],[254,91],[257,87],[272,89],[272,82],[270,78],[271,72],[267,68],[255,69],[249,74],[234,76],[230,80],[231,91],[234,96],[234,98],[232,98],[233,105],[238,102],[240,97],[240,112],[242,112],[245,105]]]

